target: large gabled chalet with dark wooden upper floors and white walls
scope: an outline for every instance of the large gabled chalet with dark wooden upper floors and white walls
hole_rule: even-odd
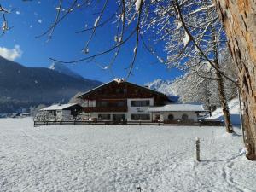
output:
[[[114,79],[78,96],[85,119],[99,121],[152,121],[148,108],[172,101],[163,93]]]

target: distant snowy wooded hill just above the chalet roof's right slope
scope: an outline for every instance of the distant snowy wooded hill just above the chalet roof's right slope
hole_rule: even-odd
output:
[[[178,100],[178,86],[170,80],[155,79],[153,82],[145,84],[151,90],[157,90],[169,96],[172,101]]]

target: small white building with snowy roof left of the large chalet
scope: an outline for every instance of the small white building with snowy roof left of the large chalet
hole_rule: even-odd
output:
[[[46,112],[50,119],[71,120],[74,119],[83,108],[78,103],[55,104],[47,108],[40,109],[40,112]]]

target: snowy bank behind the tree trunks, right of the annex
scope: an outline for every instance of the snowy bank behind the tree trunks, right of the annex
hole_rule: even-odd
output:
[[[228,102],[229,108],[230,108],[230,119],[233,125],[240,125],[240,106],[239,106],[239,100],[238,98],[230,100]],[[215,111],[212,112],[212,117],[209,117],[207,119],[217,119],[217,120],[223,120],[224,121],[224,115],[222,112],[222,108],[217,108]]]

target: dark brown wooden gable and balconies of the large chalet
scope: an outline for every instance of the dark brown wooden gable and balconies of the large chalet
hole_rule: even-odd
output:
[[[85,107],[85,113],[127,112],[127,99],[154,98],[154,106],[163,106],[172,102],[165,94],[130,82],[111,81],[108,84],[90,90],[80,96],[84,101],[96,101],[95,107]]]

